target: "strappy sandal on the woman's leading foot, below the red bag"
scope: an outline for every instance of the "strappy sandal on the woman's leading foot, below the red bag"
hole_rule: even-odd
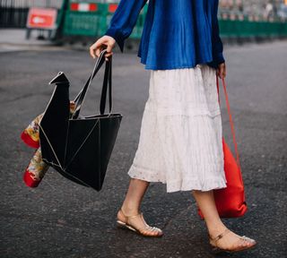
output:
[[[216,245],[216,242],[220,240],[223,236],[226,236],[228,233],[230,233],[230,229],[226,228],[221,234],[215,237],[209,236],[210,245],[212,247],[212,253],[213,254],[219,254],[222,252],[225,253],[236,253],[245,251],[248,249],[253,248],[255,245],[257,245],[257,242],[254,239],[249,238],[248,236],[239,236],[239,242],[241,242],[241,245],[238,245],[236,248],[233,249],[223,249]],[[213,244],[212,244],[213,243]]]

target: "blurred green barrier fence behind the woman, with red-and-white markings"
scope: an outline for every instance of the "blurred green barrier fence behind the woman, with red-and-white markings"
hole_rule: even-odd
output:
[[[93,0],[85,0],[84,2],[95,4]],[[65,0],[65,3],[63,4],[65,10],[63,7],[60,11],[64,15],[62,32],[64,36],[102,36],[108,29],[110,19],[117,8],[117,4],[96,4],[93,6],[95,10],[92,12],[83,12],[83,10],[75,10],[77,8],[75,6],[83,4],[83,1]],[[87,6],[84,5],[83,7],[86,8]],[[147,5],[143,7],[130,38],[140,39],[146,11]],[[223,38],[287,37],[287,22],[220,20],[219,23]]]

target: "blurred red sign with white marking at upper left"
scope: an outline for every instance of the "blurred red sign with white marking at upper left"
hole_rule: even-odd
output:
[[[28,28],[55,29],[57,9],[30,8],[27,19]]]

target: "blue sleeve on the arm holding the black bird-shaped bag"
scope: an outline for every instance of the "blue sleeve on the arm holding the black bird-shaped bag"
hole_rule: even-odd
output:
[[[137,17],[147,0],[121,0],[114,13],[105,35],[114,38],[121,52],[125,39],[132,33]]]

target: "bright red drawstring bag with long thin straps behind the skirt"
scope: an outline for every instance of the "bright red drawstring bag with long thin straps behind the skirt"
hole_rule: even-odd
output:
[[[216,78],[216,85],[218,92],[218,101],[220,102],[218,77]],[[245,201],[244,185],[241,176],[241,168],[239,164],[239,152],[237,150],[237,143],[235,140],[235,133],[230,112],[230,104],[228,100],[224,79],[222,79],[222,85],[226,99],[228,114],[230,116],[230,127],[233,136],[233,142],[237,159],[234,159],[229,146],[222,137],[223,154],[224,154],[224,172],[227,180],[226,183],[227,187],[222,189],[214,189],[213,194],[216,208],[221,218],[238,218],[245,214],[245,212],[248,210],[248,207]],[[200,211],[199,208],[197,209],[201,219],[204,219],[203,213]]]

